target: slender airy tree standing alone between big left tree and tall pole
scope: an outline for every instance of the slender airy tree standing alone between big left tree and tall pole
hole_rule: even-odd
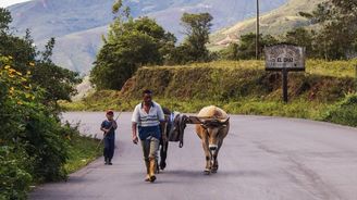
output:
[[[186,57],[186,61],[208,61],[209,52],[206,45],[209,42],[212,20],[213,17],[209,13],[184,13],[181,17],[182,25],[185,27],[186,38],[177,51],[180,54],[185,49],[186,53],[184,57]]]

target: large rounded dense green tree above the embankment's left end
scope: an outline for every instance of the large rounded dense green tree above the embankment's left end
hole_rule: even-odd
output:
[[[140,32],[127,32],[115,43],[106,43],[90,72],[98,89],[121,89],[141,65],[160,62],[155,40]]]

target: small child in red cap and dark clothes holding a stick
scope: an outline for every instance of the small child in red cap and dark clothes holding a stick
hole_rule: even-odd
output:
[[[115,129],[118,127],[116,122],[113,120],[114,112],[109,110],[106,114],[107,118],[101,123],[100,130],[104,132],[103,140],[104,140],[104,160],[106,165],[112,165],[112,158],[114,155],[114,148],[115,148]]]

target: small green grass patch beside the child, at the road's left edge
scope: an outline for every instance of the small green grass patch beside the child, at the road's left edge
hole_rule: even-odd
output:
[[[98,139],[90,137],[74,136],[71,138],[69,160],[64,165],[66,172],[73,173],[100,157],[102,153],[102,145],[97,148],[98,143]]]

